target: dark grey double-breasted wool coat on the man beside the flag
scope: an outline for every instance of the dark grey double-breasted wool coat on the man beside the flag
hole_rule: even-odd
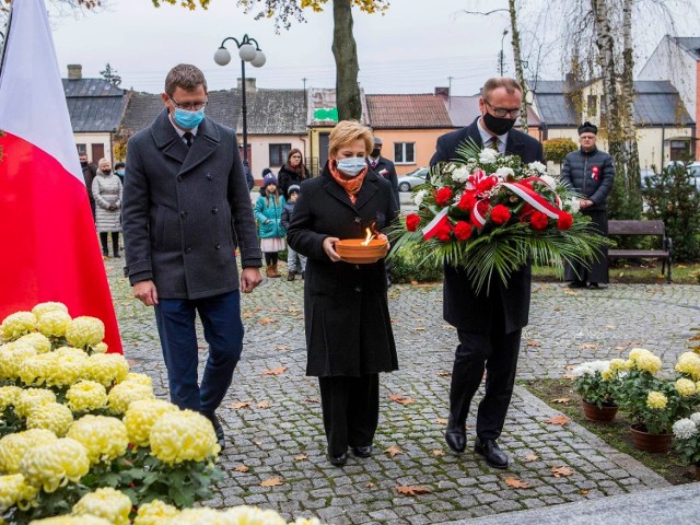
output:
[[[164,299],[202,299],[238,288],[261,266],[250,194],[235,133],[210,118],[187,148],[164,109],[129,139],[124,188],[125,275],[153,280]]]

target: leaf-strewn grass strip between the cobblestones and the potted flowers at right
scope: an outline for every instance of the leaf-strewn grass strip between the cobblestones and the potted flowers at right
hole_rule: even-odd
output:
[[[572,388],[570,380],[518,380],[521,386],[540,398],[550,407],[567,415],[570,419],[593,432],[607,444],[628,454],[664,477],[672,485],[689,483],[696,480],[695,468],[682,465],[673,448],[668,454],[638,451],[632,446],[629,420],[620,412],[610,422],[588,421],[583,417],[581,397]],[[568,402],[555,402],[557,399],[570,399]]]

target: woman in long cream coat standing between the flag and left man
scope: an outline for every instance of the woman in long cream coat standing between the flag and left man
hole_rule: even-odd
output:
[[[92,182],[92,195],[97,207],[95,224],[100,232],[102,255],[109,256],[108,236],[112,233],[113,257],[119,255],[119,232],[121,231],[121,180],[112,171],[107,159],[100,159],[97,175]]]

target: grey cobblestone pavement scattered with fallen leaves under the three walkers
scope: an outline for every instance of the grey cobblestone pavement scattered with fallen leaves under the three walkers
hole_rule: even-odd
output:
[[[125,353],[132,369],[148,373],[158,395],[167,398],[153,312],[131,299],[120,264],[109,259],[107,269]],[[489,468],[470,448],[453,455],[442,435],[457,340],[442,320],[439,284],[389,290],[400,370],[381,377],[375,453],[369,459],[351,456],[342,469],[330,466],[316,380],[304,376],[302,287],[301,281],[270,279],[243,298],[243,358],[220,409],[231,445],[220,458],[224,480],[208,505],[254,504],[287,518],[315,515],[339,525],[436,524],[667,486],[583,428],[548,423],[558,412],[521,387],[500,440],[511,455],[510,469]],[[533,291],[518,377],[559,377],[567,365],[623,355],[634,346],[658,352],[670,366],[700,318],[700,287],[614,285],[573,292],[536,283]],[[200,348],[203,359],[203,340]],[[262,375],[281,366],[285,371],[280,375]],[[390,394],[415,402],[394,402]],[[250,405],[235,409],[236,402]],[[474,419],[467,424],[472,429]],[[468,433],[469,445],[472,439]],[[393,445],[401,453],[389,457],[384,451]],[[242,465],[249,470],[236,471]],[[560,466],[573,475],[555,477],[551,468]],[[282,485],[260,487],[273,477]],[[508,477],[529,488],[512,489]],[[422,486],[430,493],[401,495],[397,486]]]

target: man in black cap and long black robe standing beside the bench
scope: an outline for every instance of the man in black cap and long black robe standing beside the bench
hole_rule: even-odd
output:
[[[581,213],[591,218],[591,224],[604,236],[608,236],[607,200],[615,184],[612,158],[595,145],[598,128],[588,121],[579,126],[581,148],[564,158],[561,179],[570,190],[582,196]],[[609,282],[608,248],[602,247],[598,260],[590,267],[582,262],[564,267],[564,280],[569,288],[596,289]]]

